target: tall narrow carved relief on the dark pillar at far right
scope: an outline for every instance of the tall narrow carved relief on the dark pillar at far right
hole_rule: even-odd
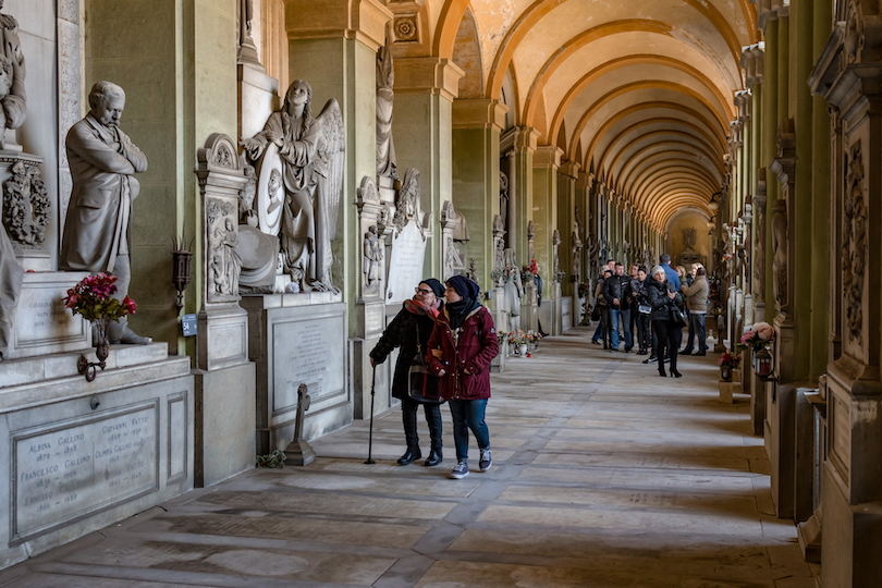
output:
[[[860,142],[848,154],[843,215],[843,290],[845,321],[852,340],[862,343],[863,273],[867,256],[867,205],[863,199],[863,158]]]

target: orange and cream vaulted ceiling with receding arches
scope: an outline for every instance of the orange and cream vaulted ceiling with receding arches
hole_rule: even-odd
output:
[[[389,0],[389,5],[414,1]],[[431,54],[465,72],[461,98],[503,99],[659,226],[710,216],[723,182],[748,0],[416,0]]]

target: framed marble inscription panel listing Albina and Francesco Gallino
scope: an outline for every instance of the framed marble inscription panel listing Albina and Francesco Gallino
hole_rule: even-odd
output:
[[[158,490],[149,401],[12,434],[12,543]]]

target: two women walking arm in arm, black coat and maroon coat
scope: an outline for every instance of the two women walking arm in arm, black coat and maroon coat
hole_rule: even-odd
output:
[[[404,466],[422,457],[417,434],[420,404],[431,438],[424,465],[442,462],[441,404],[446,402],[456,448],[456,465],[450,477],[468,476],[469,430],[480,452],[478,467],[481,471],[490,469],[493,460],[485,414],[490,399],[490,363],[499,354],[499,338],[492,316],[480,304],[478,284],[463,275],[454,275],[446,284],[433,278],[421,281],[370,352],[371,365],[382,364],[396,347],[400,353],[392,395],[401,400],[407,441],[397,463]],[[437,394],[413,395],[415,364],[426,366],[424,390],[437,390]]]

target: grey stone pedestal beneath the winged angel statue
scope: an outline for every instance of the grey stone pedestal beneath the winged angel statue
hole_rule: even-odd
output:
[[[248,311],[248,355],[257,364],[257,453],[284,450],[294,439],[302,383],[311,396],[303,439],[309,441],[352,422],[348,327],[342,295],[245,296],[242,305]],[[362,346],[357,359],[368,360],[368,351]],[[369,382],[363,388],[370,390]]]

